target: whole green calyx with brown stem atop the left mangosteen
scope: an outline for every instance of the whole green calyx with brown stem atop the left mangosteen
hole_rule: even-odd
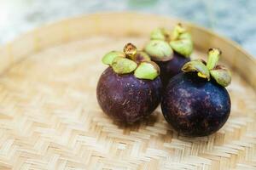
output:
[[[140,79],[154,80],[160,74],[160,69],[148,54],[137,51],[132,43],[127,43],[124,53],[111,51],[102,58],[105,65],[110,65],[117,74],[134,72],[134,76]]]

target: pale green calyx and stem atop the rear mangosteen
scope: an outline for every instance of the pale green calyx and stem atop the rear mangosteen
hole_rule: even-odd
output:
[[[189,32],[181,24],[177,24],[173,31],[165,28],[154,29],[150,34],[150,42],[145,46],[145,52],[154,60],[166,61],[172,59],[172,50],[189,57],[193,52]]]

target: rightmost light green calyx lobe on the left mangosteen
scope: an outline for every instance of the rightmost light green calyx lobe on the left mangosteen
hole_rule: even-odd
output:
[[[154,62],[142,62],[138,65],[136,71],[134,71],[134,76],[141,79],[154,80],[160,74],[160,68]]]

